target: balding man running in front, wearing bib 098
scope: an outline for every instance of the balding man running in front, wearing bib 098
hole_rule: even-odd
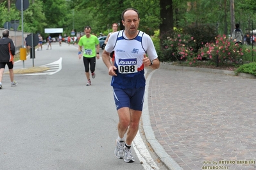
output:
[[[132,141],[139,129],[146,79],[144,66],[159,68],[159,60],[149,35],[138,30],[139,13],[128,8],[122,13],[124,30],[112,33],[103,50],[103,61],[112,75],[115,107],[119,116],[115,157],[134,162]],[[115,65],[109,59],[115,51]],[[126,134],[126,139],[125,139]]]

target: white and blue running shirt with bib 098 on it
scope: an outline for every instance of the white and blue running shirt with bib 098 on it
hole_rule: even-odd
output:
[[[107,52],[115,51],[115,66],[117,76],[112,77],[111,86],[121,89],[141,88],[146,84],[144,77],[144,54],[156,59],[157,52],[149,35],[139,31],[139,34],[128,39],[124,31],[112,33],[105,47]]]

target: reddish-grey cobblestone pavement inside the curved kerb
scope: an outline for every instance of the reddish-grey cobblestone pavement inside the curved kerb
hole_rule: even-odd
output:
[[[155,70],[148,110],[158,143],[183,169],[256,169],[255,86],[220,73]]]

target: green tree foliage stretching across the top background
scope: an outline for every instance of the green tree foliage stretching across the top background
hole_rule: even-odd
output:
[[[20,20],[21,11],[15,7],[15,0],[0,0],[0,23]],[[241,29],[248,31],[256,27],[256,1],[235,0],[235,22]],[[225,29],[230,34],[230,1],[228,0],[30,0],[30,6],[24,11],[24,31],[43,33],[45,28],[63,27],[69,35],[74,27],[76,32],[83,32],[83,27],[90,25],[95,34],[111,31],[112,23],[123,29],[121,13],[126,8],[139,11],[141,22],[139,29],[149,35],[160,28],[160,35],[172,30],[191,26],[191,24],[212,24],[218,33]],[[253,24],[255,23],[255,24]],[[255,26],[253,26],[253,25]],[[163,32],[162,32],[162,31]]]

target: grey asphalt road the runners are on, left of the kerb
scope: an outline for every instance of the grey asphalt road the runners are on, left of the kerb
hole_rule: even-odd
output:
[[[77,47],[53,43],[52,50],[44,45],[36,51],[34,61],[28,58],[14,66],[16,71],[49,70],[15,74],[16,87],[4,73],[0,169],[147,169],[134,150],[133,164],[114,156],[118,118],[111,77],[102,59],[96,62],[96,78],[85,86]]]

